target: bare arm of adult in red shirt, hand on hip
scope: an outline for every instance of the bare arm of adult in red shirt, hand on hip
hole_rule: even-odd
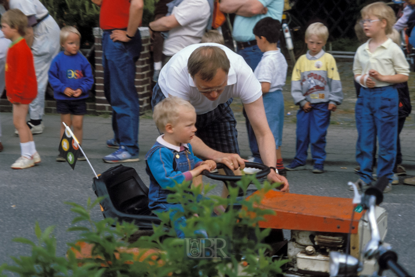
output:
[[[113,42],[129,42],[131,39],[127,38],[127,35],[130,37],[135,36],[135,33],[138,31],[138,26],[141,24],[141,20],[143,19],[143,9],[143,0],[130,1],[127,30],[112,31],[110,38],[113,40]]]

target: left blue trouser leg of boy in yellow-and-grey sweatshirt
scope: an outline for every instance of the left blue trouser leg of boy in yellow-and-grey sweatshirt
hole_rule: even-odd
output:
[[[306,113],[302,108],[297,111],[297,129],[295,133],[297,140],[294,160],[301,165],[305,165],[308,144],[310,143],[310,112]]]

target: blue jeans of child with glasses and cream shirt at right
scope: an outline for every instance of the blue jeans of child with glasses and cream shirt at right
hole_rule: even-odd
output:
[[[378,178],[386,176],[392,181],[396,160],[396,140],[398,137],[398,92],[392,86],[362,88],[356,102],[356,119],[360,119],[360,155],[356,160],[360,165],[361,179],[372,182],[373,155],[376,136],[379,144],[377,159]]]

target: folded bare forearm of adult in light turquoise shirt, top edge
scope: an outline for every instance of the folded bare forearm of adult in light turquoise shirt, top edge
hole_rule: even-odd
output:
[[[258,0],[221,0],[219,9],[222,12],[236,13],[245,17],[264,14],[267,11]]]

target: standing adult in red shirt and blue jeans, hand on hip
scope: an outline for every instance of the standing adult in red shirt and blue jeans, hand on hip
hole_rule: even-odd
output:
[[[143,17],[143,0],[92,0],[101,7],[104,93],[113,108],[114,138],[110,148],[118,148],[103,158],[107,163],[138,162],[138,94],[135,90],[135,62],[141,51],[138,26]]]

